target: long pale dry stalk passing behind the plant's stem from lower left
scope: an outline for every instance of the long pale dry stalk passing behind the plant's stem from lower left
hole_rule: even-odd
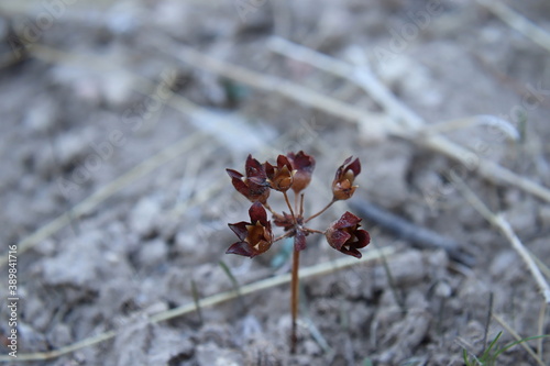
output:
[[[378,251],[370,251],[363,254],[363,257],[361,259],[352,258],[352,257],[345,257],[341,259],[337,259],[334,262],[327,262],[327,263],[321,263],[315,266],[310,266],[307,268],[302,268],[299,271],[300,278],[306,279],[306,278],[311,278],[311,277],[317,277],[317,276],[324,276],[328,274],[331,274],[333,271],[349,268],[352,266],[359,266],[365,263],[370,263],[373,260],[377,260],[381,258],[381,255],[384,255],[386,257],[393,255],[396,252],[395,247],[387,246],[384,248],[381,248]],[[256,291],[265,290],[275,286],[288,284],[290,281],[290,274],[284,274],[275,277],[271,277],[267,279],[263,279],[253,284],[249,284],[245,286],[241,287],[240,293],[242,296],[253,293]],[[208,307],[213,307],[216,304],[232,300],[234,298],[239,297],[239,295],[234,290],[217,293],[209,296],[207,298],[204,298],[200,300],[200,307],[201,309],[208,308]],[[155,315],[152,315],[150,318],[150,323],[158,323],[165,320],[174,319],[177,317],[182,317],[188,313],[191,313],[197,310],[197,306],[195,302],[187,303],[185,306],[182,306],[179,308],[170,309],[167,311],[160,312]],[[0,356],[0,362],[22,362],[22,361],[38,361],[38,359],[51,359],[55,357],[59,357],[62,355],[66,355],[68,353],[75,352],[77,350],[88,347],[95,344],[98,344],[100,342],[105,342],[108,340],[113,339],[117,335],[116,331],[109,331],[106,333],[98,334],[96,336],[79,341],[77,343],[74,343],[72,345],[61,347],[58,350],[53,350],[48,352],[41,352],[41,353],[32,353],[32,354],[18,354],[18,358],[13,358],[11,356],[7,355],[1,355]]]

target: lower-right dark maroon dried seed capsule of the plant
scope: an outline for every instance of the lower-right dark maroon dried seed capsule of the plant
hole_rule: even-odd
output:
[[[362,219],[353,213],[346,211],[342,214],[340,220],[334,221],[324,233],[327,242],[329,242],[330,246],[334,249],[343,254],[361,258],[361,252],[358,249],[365,247],[371,242],[369,233],[359,229],[361,226],[361,220]]]

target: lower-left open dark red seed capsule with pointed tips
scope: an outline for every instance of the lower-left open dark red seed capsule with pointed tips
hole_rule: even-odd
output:
[[[241,221],[229,224],[229,228],[231,228],[241,241],[231,245],[226,253],[253,258],[266,252],[272,246],[272,223],[267,221],[267,213],[262,203],[253,203],[249,210],[249,215],[250,222]]]

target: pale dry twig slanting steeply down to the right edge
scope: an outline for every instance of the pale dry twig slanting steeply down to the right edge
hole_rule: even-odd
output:
[[[458,175],[451,174],[451,179],[454,182],[455,187],[465,197],[465,199],[473,206],[473,208],[477,210],[477,212],[480,212],[485,218],[485,220],[497,226],[510,242],[512,247],[519,254],[521,259],[527,265],[527,268],[529,268],[532,277],[537,281],[544,301],[547,303],[550,303],[550,287],[548,286],[548,282],[540,273],[540,269],[532,257],[529,255],[529,252],[527,252],[521,241],[517,237],[508,221],[506,221],[506,219],[502,214],[493,213]]]

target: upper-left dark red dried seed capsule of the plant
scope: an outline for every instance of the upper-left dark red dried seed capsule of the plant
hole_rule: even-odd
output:
[[[249,155],[244,165],[245,175],[237,170],[226,169],[231,177],[233,187],[251,202],[266,203],[270,197],[270,186],[264,166]]]

